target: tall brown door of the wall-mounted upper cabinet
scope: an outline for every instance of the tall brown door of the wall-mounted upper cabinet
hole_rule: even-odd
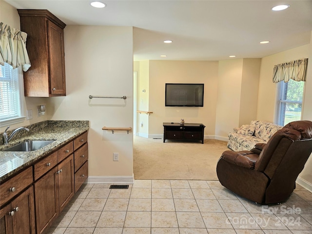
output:
[[[51,95],[65,95],[65,61],[63,30],[55,23],[48,21],[48,43],[50,64]]]

